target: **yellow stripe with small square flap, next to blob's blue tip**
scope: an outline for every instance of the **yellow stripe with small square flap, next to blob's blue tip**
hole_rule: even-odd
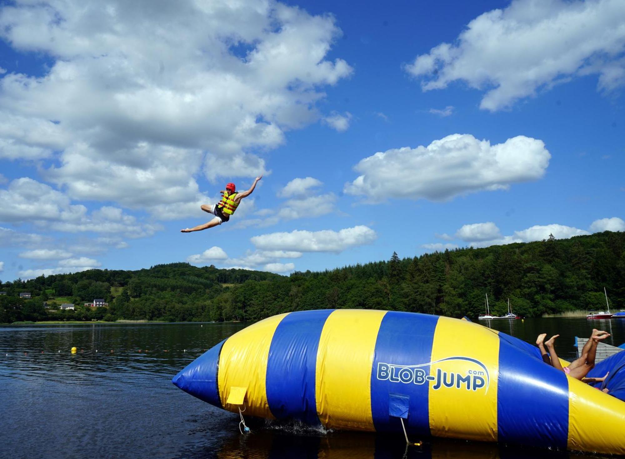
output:
[[[274,419],[267,403],[267,358],[274,332],[284,316],[286,314],[256,322],[237,331],[224,343],[219,355],[217,378],[219,397],[226,410],[238,412],[239,405],[228,404],[226,400],[231,391],[241,393],[246,389],[246,415]]]

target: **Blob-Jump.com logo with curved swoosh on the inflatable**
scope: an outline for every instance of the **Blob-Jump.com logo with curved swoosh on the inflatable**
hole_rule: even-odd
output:
[[[459,368],[453,371],[441,370],[437,368],[434,375],[428,375],[425,366],[435,365],[436,363],[458,361],[462,364],[457,365]],[[472,363],[474,368],[467,368],[467,363]],[[394,365],[392,363],[379,362],[377,364],[377,379],[380,381],[390,381],[391,383],[404,384],[425,384],[432,383],[433,390],[440,388],[454,388],[458,390],[477,391],[484,388],[484,395],[488,392],[490,376],[488,369],[481,361],[471,357],[454,356],[442,358],[428,363],[419,365]]]

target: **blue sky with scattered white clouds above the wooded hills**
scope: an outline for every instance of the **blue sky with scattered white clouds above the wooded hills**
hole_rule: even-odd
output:
[[[619,0],[2,2],[0,278],[624,231],[624,21]]]

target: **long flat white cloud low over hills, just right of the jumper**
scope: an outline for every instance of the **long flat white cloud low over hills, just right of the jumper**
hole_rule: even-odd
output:
[[[298,252],[335,252],[371,244],[376,240],[374,230],[367,226],[354,226],[340,231],[301,231],[270,233],[254,236],[252,244],[261,250],[291,250]]]

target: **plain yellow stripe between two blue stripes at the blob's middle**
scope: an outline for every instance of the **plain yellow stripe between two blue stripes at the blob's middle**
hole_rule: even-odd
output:
[[[375,430],[371,367],[386,311],[336,310],[328,316],[317,350],[317,415],[329,428]]]

